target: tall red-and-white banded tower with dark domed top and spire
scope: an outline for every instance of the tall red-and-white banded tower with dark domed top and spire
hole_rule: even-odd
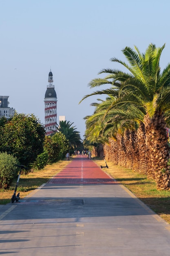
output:
[[[53,85],[53,74],[49,72],[49,84],[47,85],[45,98],[45,130],[46,135],[51,135],[57,131],[57,94]]]

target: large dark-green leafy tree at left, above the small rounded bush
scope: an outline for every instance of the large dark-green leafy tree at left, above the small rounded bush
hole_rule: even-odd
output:
[[[0,151],[17,157],[28,166],[43,152],[45,130],[34,115],[15,113],[0,127]]]

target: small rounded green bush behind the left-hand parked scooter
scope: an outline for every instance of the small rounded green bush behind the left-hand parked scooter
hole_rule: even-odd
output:
[[[0,153],[0,189],[9,189],[14,177],[17,176],[19,164],[16,157],[7,153]]]

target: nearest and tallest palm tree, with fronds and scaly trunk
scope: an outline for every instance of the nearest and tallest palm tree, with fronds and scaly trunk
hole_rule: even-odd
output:
[[[159,64],[164,47],[165,45],[156,48],[155,45],[150,44],[145,54],[141,54],[137,47],[135,51],[130,47],[125,47],[122,52],[129,65],[117,58],[111,58],[111,61],[123,65],[128,73],[121,70],[103,69],[99,74],[107,73],[107,76],[104,79],[93,79],[90,86],[93,88],[111,84],[112,88],[93,92],[83,98],[95,94],[114,93],[116,90],[119,95],[124,93],[129,96],[129,100],[126,101],[128,104],[131,102],[130,96],[135,97],[136,104],[146,111],[144,127],[146,153],[149,159],[148,173],[151,176],[155,175],[159,189],[168,189],[170,186],[167,172],[169,147],[165,120],[166,112],[170,111],[170,64],[163,72]],[[120,97],[120,99],[123,98]]]

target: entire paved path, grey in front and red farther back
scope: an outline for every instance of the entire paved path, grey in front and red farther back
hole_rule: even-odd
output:
[[[0,206],[0,255],[169,256],[170,225],[104,171],[77,156],[20,203]]]

